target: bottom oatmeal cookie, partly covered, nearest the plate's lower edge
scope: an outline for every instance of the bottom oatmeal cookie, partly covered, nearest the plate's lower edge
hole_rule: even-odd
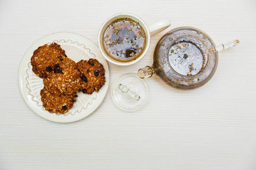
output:
[[[43,107],[50,113],[66,113],[76,101],[76,95],[55,95],[44,87],[40,91]]]

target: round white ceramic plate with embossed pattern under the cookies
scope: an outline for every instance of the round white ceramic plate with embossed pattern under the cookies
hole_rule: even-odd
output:
[[[96,58],[105,69],[106,82],[99,92],[86,95],[78,92],[77,101],[67,113],[49,113],[42,105],[40,90],[43,89],[43,79],[39,78],[32,71],[30,59],[34,50],[44,44],[56,42],[65,50],[65,54],[78,62],[81,59]],[[100,53],[98,47],[92,41],[83,36],[69,32],[57,32],[44,36],[28,48],[19,66],[18,73],[19,90],[27,105],[39,116],[54,122],[73,122],[80,120],[92,113],[104,99],[109,85],[109,68],[105,58]]]

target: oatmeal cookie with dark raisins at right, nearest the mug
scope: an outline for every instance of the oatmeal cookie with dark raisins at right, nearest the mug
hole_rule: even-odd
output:
[[[77,62],[77,68],[81,72],[80,91],[84,94],[98,92],[105,84],[105,69],[97,59],[90,58],[89,61],[82,59]]]

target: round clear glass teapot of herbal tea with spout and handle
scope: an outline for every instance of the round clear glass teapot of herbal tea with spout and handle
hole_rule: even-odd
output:
[[[156,44],[154,63],[138,70],[139,78],[158,75],[164,83],[192,89],[207,83],[216,71],[218,51],[236,46],[239,40],[215,45],[203,31],[179,27],[166,33]]]

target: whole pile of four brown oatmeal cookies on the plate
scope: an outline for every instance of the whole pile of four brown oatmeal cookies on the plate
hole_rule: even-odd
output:
[[[76,101],[77,92],[98,92],[105,84],[105,69],[97,59],[73,61],[60,45],[39,46],[31,57],[32,71],[43,78],[40,91],[43,107],[48,112],[66,113]]]

